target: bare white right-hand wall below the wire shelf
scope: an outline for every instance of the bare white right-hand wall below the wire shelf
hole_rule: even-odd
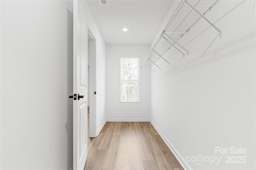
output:
[[[220,1],[206,17],[222,38],[200,20],[179,41],[189,55],[178,68],[161,64],[162,72],[151,74],[150,118],[180,160],[222,156],[219,164],[187,162],[192,169],[256,168],[255,7],[255,1]],[[172,48],[164,57],[175,62],[181,54]],[[215,154],[215,147],[229,150]],[[247,153],[230,154],[230,147]],[[226,156],[246,156],[247,162],[227,164]]]

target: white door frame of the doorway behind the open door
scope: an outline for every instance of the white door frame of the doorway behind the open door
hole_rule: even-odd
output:
[[[94,92],[97,92],[97,74],[96,74],[96,68],[97,68],[97,59],[96,59],[96,38],[93,35],[91,29],[87,26],[87,37],[88,37],[88,44],[90,43],[91,49],[87,51],[90,51],[90,54],[88,54],[88,57],[90,57],[90,138],[97,137],[96,134],[96,99],[97,95],[94,94]],[[88,45],[87,45],[88,48]]]

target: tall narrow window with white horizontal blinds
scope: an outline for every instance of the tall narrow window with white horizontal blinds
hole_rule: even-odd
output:
[[[121,56],[121,102],[139,102],[139,56]]]

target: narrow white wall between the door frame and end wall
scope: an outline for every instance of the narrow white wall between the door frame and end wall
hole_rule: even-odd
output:
[[[106,121],[106,44],[86,1],[81,1],[86,23],[96,38],[96,130],[100,131]],[[92,102],[92,101],[90,101]]]

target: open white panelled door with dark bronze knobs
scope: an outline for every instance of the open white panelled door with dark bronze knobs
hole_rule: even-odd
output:
[[[73,167],[83,170],[87,156],[87,27],[79,0],[74,0],[73,28]]]

